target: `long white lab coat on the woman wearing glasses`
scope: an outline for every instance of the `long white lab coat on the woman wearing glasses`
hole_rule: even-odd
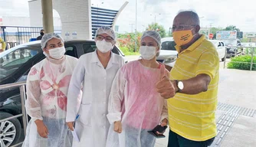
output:
[[[74,147],[105,147],[110,123],[107,120],[108,97],[114,77],[124,64],[123,57],[113,54],[104,69],[97,51],[84,54],[78,60],[67,94],[67,122],[77,116],[77,96],[83,83],[83,96],[75,123],[80,142],[73,140]]]

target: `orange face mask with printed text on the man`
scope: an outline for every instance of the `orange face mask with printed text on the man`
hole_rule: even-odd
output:
[[[173,40],[179,47],[184,44],[188,44],[194,37],[194,34],[192,33],[193,29],[194,28],[192,28],[191,30],[173,31]]]

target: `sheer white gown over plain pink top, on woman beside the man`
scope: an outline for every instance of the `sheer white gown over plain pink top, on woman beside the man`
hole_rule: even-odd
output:
[[[108,147],[155,145],[156,138],[148,131],[168,117],[166,100],[156,91],[159,80],[160,68],[145,67],[139,60],[121,67],[110,92]],[[113,132],[113,123],[118,120],[123,126],[120,134]]]

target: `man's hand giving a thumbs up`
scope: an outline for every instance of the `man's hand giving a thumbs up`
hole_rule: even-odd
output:
[[[172,81],[166,76],[166,67],[164,64],[161,64],[160,67],[159,82],[156,83],[156,89],[157,92],[165,99],[169,99],[176,94]]]

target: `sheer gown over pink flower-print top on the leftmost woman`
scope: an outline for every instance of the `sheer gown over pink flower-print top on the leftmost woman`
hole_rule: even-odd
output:
[[[28,73],[26,110],[31,121],[23,147],[70,147],[71,133],[66,125],[67,90],[77,58],[44,59]],[[79,99],[78,99],[79,100]],[[77,101],[79,103],[79,101]],[[48,139],[39,136],[34,120],[48,127]]]

